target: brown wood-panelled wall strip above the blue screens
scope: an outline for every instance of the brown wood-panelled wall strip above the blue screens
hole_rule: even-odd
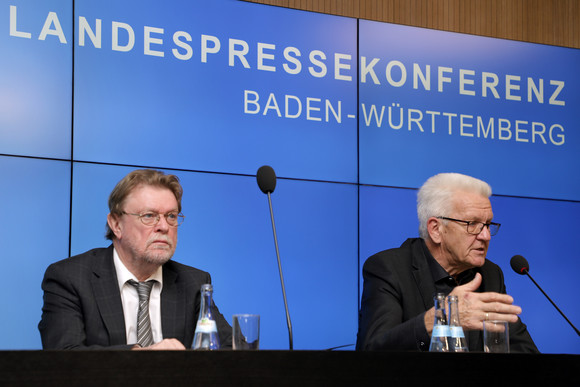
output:
[[[580,48],[580,0],[247,0],[443,31]]]

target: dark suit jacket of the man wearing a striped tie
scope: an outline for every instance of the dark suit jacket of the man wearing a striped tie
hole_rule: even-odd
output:
[[[161,325],[164,338],[191,348],[209,273],[174,261],[163,265]],[[44,349],[128,349],[113,246],[53,263],[42,281],[38,324]],[[232,328],[212,305],[220,344],[231,347]]]

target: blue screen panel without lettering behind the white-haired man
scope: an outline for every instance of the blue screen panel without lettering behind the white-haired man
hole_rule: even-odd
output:
[[[361,187],[361,267],[370,255],[418,236],[416,195],[411,189]],[[492,196],[491,203],[494,220],[502,226],[492,237],[488,259],[502,268],[508,294],[522,307],[522,320],[536,345],[544,353],[580,353],[574,330],[509,264],[516,254],[526,257],[530,274],[577,325],[580,285],[575,277],[580,264],[574,254],[574,230],[566,219],[580,216],[580,204],[501,196]],[[362,292],[362,275],[360,285]]]

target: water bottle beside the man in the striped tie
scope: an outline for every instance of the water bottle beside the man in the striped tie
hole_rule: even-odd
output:
[[[193,336],[193,349],[215,350],[220,348],[217,325],[211,313],[213,286],[201,285],[201,309]]]

